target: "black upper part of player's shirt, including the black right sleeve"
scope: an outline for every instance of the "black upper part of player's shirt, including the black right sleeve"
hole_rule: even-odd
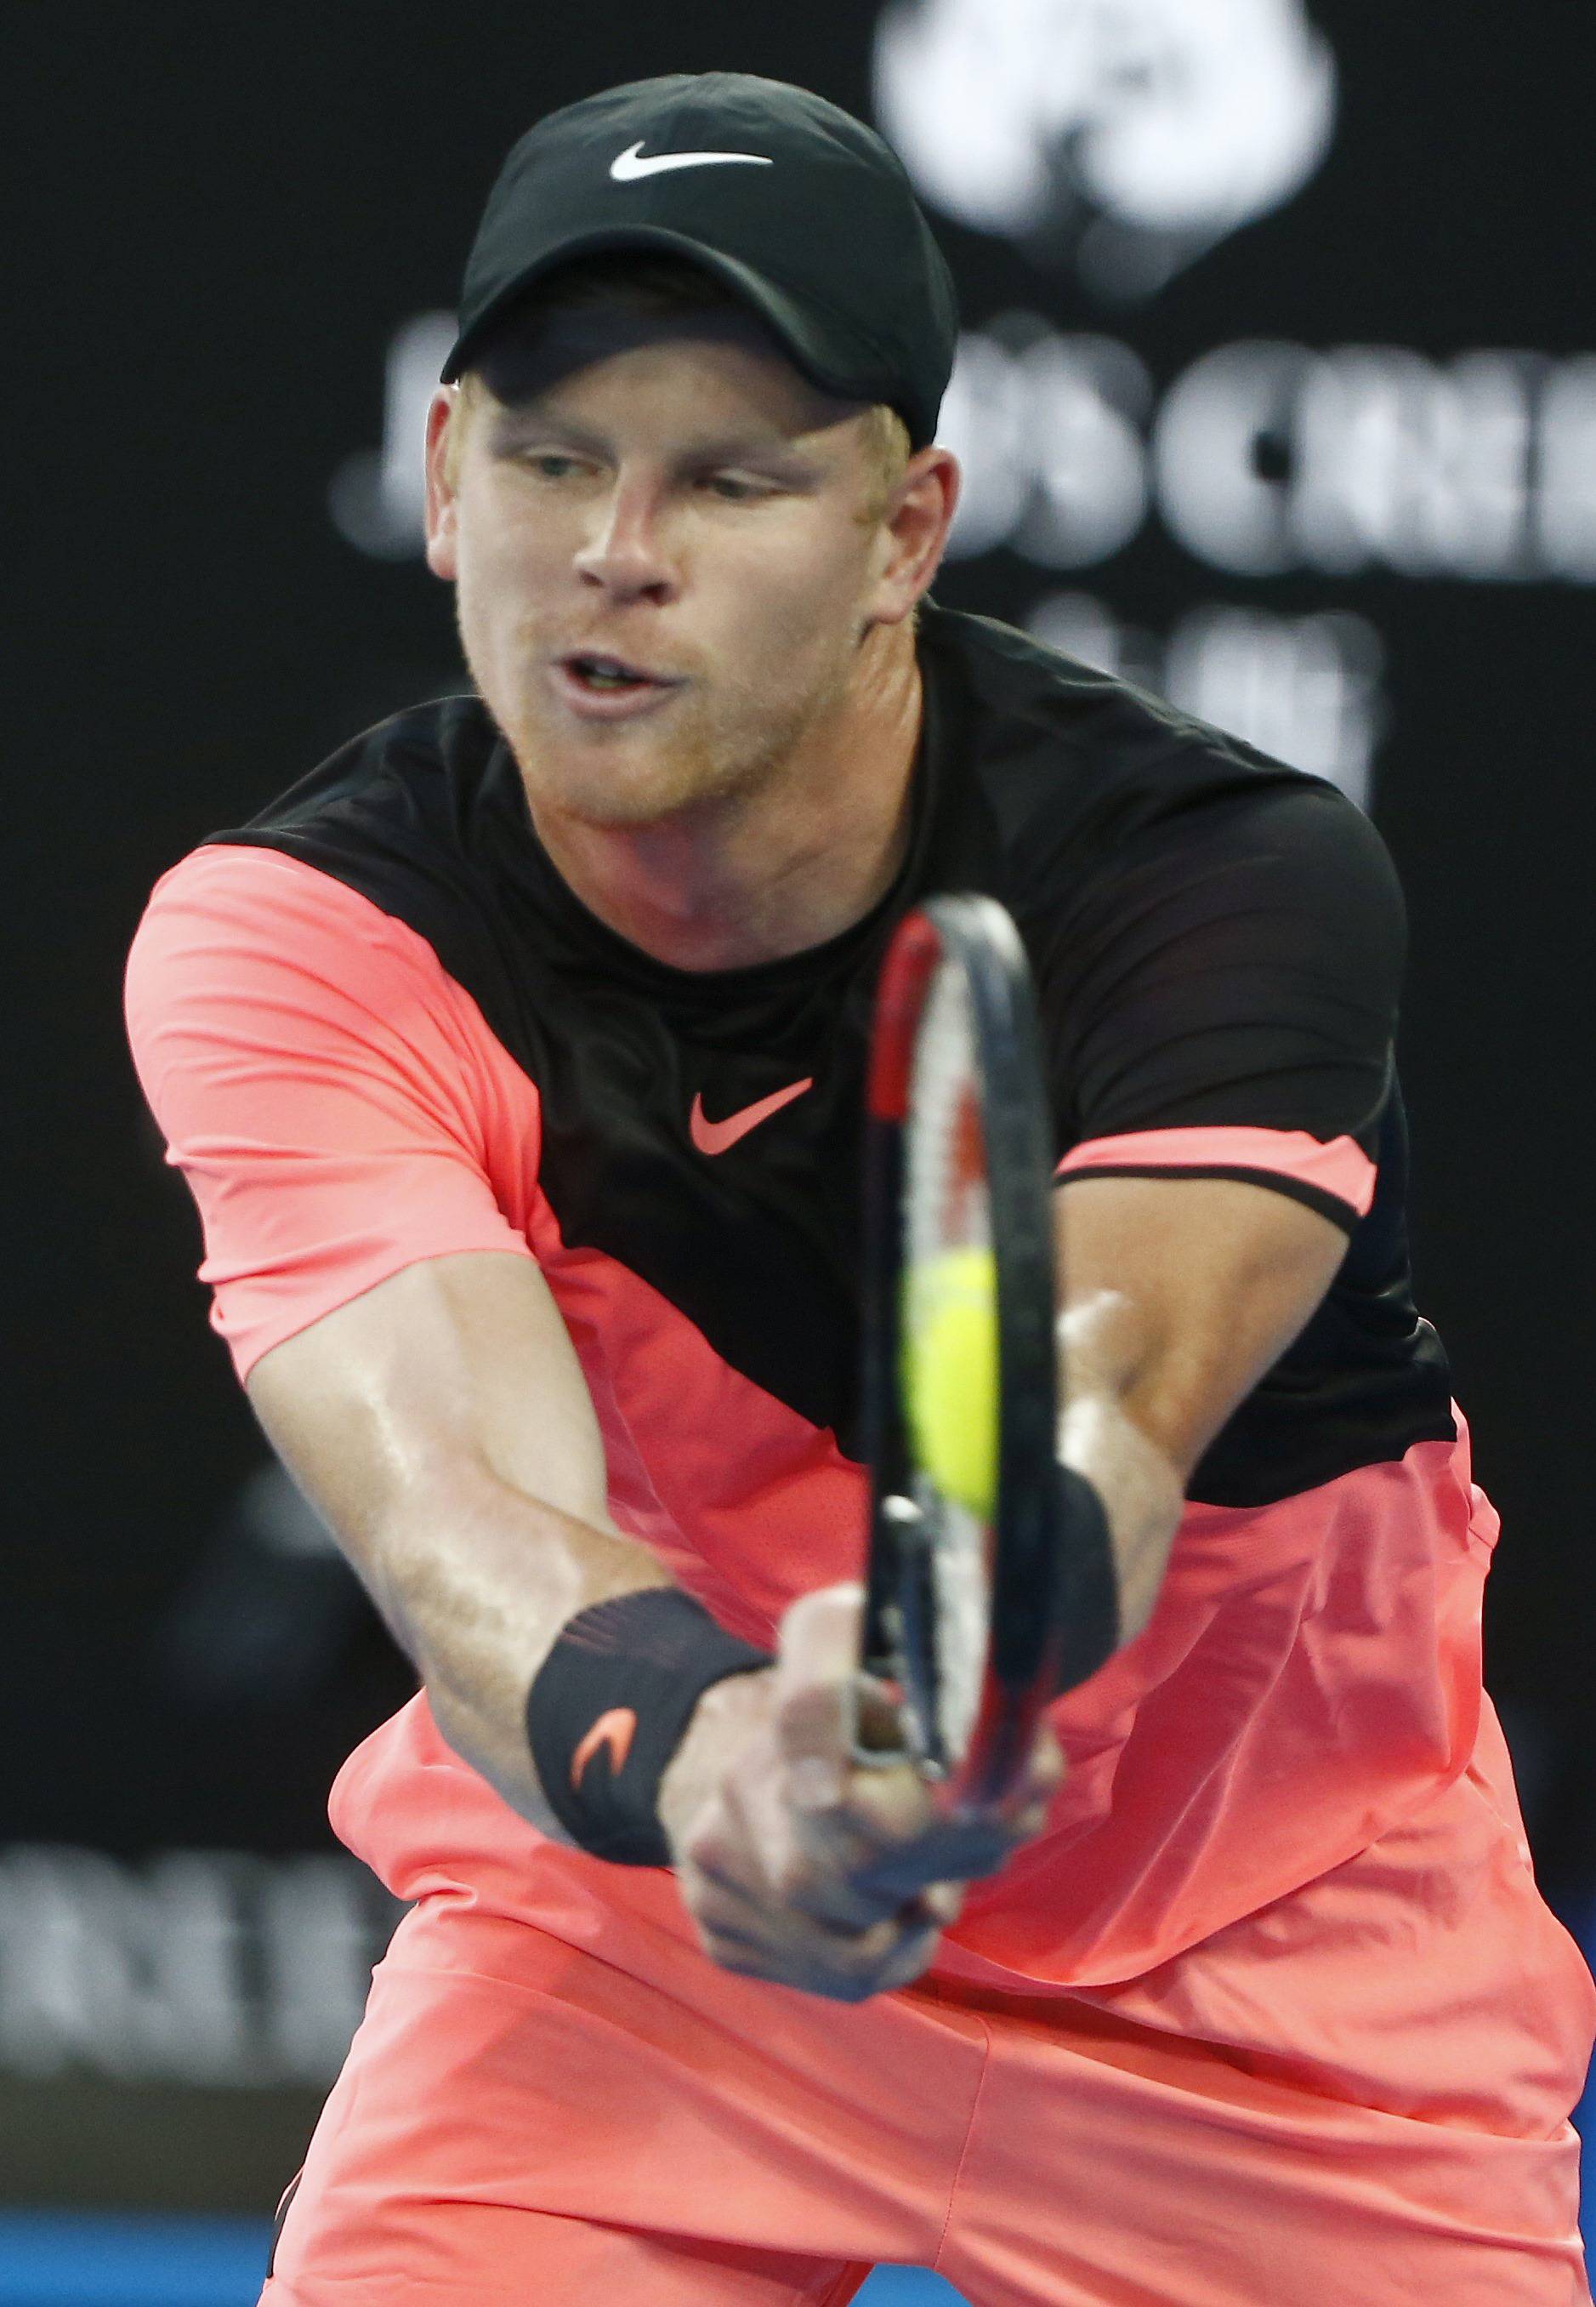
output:
[[[1400,897],[1331,787],[985,618],[923,604],[925,724],[899,874],[823,946],[733,971],[655,962],[581,907],[484,704],[415,706],[214,842],[279,849],[404,920],[542,1105],[567,1246],[662,1292],[715,1352],[858,1456],[858,1151],[874,976],[902,914],[983,891],[1038,983],[1056,1156],[1188,1126],[1352,1135],[1368,1216],[1301,1338],[1188,1483],[1259,1506],[1451,1440],[1409,1287],[1391,1068]],[[731,1114],[810,1080],[715,1158]],[[1312,1190],[1298,1197],[1317,1202]]]

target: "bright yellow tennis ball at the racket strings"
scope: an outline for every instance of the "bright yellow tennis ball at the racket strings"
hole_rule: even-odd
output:
[[[916,1458],[969,1513],[996,1511],[996,1264],[943,1250],[904,1292],[904,1421]]]

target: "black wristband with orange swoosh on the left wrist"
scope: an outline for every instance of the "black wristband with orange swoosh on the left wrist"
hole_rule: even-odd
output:
[[[643,1587],[579,1610],[526,1700],[526,1737],[570,1839],[618,1866],[669,1866],[660,1779],[699,1698],[770,1666],[680,1587]]]

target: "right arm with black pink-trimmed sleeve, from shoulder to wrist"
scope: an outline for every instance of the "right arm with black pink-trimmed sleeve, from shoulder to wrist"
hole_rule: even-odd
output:
[[[1107,1513],[1121,1640],[1197,1460],[1372,1202],[1405,953],[1352,803],[1308,777],[1211,791],[1195,759],[1202,805],[1082,877],[1042,983],[1079,1133],[1054,1193],[1061,1456]]]

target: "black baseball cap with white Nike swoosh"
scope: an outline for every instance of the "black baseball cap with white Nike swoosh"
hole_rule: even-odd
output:
[[[671,72],[549,113],[512,148],[461,291],[452,383],[510,307],[604,249],[667,249],[750,305],[812,383],[936,438],[959,311],[904,164],[851,113],[745,72]]]

